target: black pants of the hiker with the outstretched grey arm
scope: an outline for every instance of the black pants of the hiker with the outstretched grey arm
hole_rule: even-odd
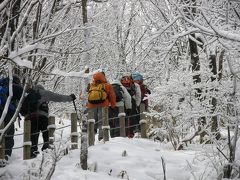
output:
[[[43,146],[42,151],[47,149],[49,146],[49,138],[48,138],[48,118],[46,116],[37,116],[31,118],[31,153],[38,151],[38,138],[40,131],[42,132],[43,137]]]

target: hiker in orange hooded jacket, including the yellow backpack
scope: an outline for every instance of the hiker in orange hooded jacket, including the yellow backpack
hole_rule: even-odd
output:
[[[97,72],[93,75],[93,82],[88,88],[88,112],[94,112],[94,131],[98,131],[98,140],[103,139],[102,132],[102,108],[115,108],[116,96],[111,84],[107,82],[104,72]]]

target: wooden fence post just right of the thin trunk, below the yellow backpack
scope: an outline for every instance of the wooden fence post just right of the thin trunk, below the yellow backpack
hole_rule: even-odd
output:
[[[94,112],[88,112],[88,145],[93,146],[95,142],[95,132],[94,132]]]

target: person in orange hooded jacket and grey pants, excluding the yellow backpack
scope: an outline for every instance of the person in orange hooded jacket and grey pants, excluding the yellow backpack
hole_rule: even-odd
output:
[[[95,119],[94,130],[96,133],[97,129],[99,129],[98,140],[100,141],[101,139],[103,139],[102,108],[109,107],[109,106],[110,106],[110,108],[115,108],[116,95],[115,95],[112,85],[107,82],[104,72],[97,72],[93,75],[93,82],[89,85],[88,94],[91,91],[91,86],[94,86],[97,84],[103,84],[104,92],[106,92],[106,99],[103,100],[103,102],[97,102],[97,103],[94,102],[93,103],[90,101],[89,96],[88,96],[87,108],[88,108],[88,111],[94,112],[94,119]]]

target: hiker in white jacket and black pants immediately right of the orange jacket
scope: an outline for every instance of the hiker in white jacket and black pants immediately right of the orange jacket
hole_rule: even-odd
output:
[[[113,138],[120,136],[119,107],[125,107],[125,112],[130,113],[132,103],[130,94],[119,80],[115,80],[111,84],[116,95],[116,107],[109,108],[110,135]]]

